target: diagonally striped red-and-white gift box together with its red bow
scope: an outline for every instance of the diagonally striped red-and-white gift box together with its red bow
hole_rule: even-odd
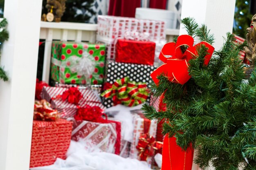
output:
[[[79,107],[86,105],[105,109],[99,97],[90,88],[44,87],[41,96],[52,104],[52,108],[57,109],[63,118],[73,117]]]

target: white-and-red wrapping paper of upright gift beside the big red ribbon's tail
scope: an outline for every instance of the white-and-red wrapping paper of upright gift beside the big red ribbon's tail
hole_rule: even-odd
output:
[[[130,157],[131,158],[137,158],[139,159],[139,151],[137,150],[136,146],[138,145],[139,137],[141,134],[144,133],[144,121],[146,120],[146,117],[144,117],[143,113],[141,111],[134,111],[132,114],[133,117],[133,125],[134,125],[134,130],[133,130],[133,139],[131,143],[131,148],[130,148]],[[157,124],[154,120],[151,121],[150,127],[149,127],[149,135],[156,137],[156,130],[157,130]],[[152,163],[152,158],[147,159],[147,163],[151,165]]]

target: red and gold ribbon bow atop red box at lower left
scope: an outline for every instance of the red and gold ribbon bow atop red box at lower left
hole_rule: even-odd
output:
[[[35,100],[34,120],[55,121],[59,114],[57,110],[51,108],[51,104],[46,100]]]

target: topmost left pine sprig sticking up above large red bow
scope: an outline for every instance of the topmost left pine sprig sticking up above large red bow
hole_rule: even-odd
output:
[[[180,22],[184,25],[188,35],[195,38],[196,30],[198,29],[198,24],[195,22],[195,19],[188,17],[180,20]]]

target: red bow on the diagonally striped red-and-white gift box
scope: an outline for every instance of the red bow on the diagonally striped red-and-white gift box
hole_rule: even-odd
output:
[[[78,104],[83,95],[77,87],[70,87],[58,97],[61,97],[63,101],[67,100],[69,103]]]

